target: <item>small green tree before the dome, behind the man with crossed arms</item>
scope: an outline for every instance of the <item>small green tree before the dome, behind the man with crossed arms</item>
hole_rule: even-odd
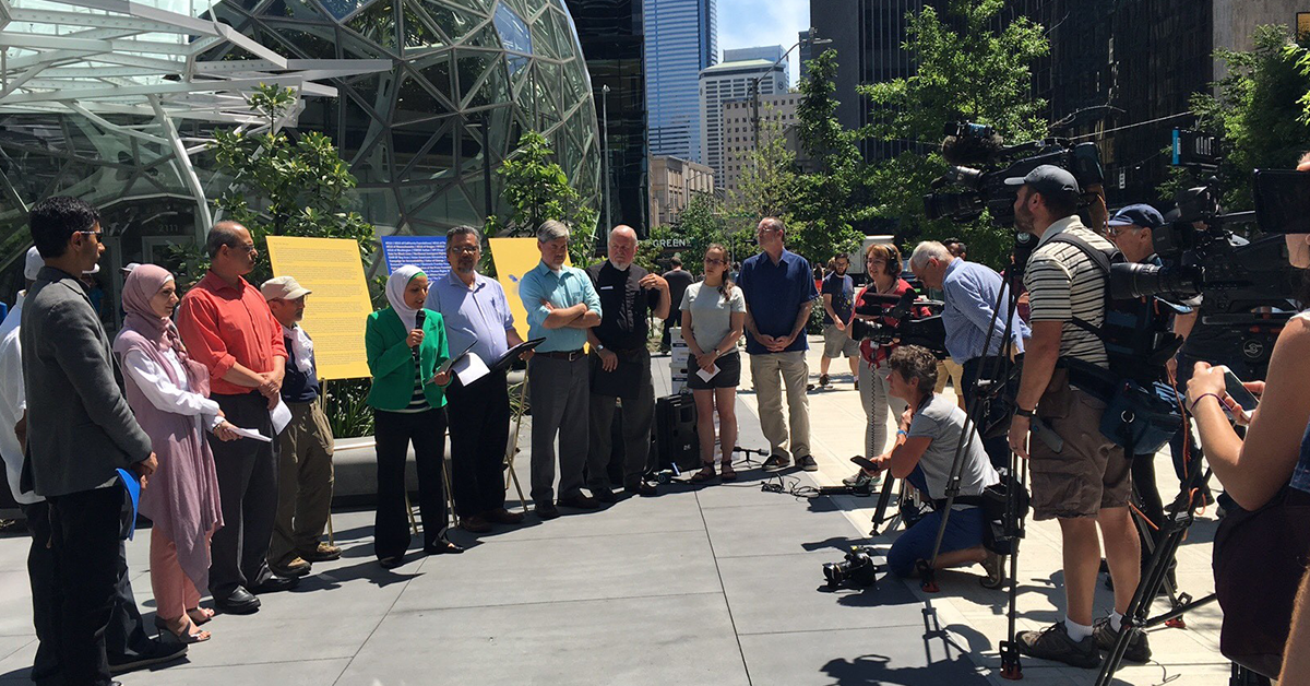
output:
[[[523,134],[519,148],[496,169],[510,212],[487,218],[487,235],[531,236],[548,219],[563,222],[572,231],[569,256],[574,265],[582,266],[593,260],[600,218],[569,185],[569,176],[554,156],[544,135]]]

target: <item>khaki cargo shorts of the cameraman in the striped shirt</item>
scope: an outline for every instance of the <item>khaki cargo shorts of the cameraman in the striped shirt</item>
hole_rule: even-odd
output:
[[[1100,433],[1106,404],[1069,386],[1069,373],[1057,369],[1038,404],[1038,420],[1064,439],[1055,453],[1040,438],[1028,438],[1034,519],[1095,517],[1124,508],[1132,493],[1131,462],[1124,449]]]

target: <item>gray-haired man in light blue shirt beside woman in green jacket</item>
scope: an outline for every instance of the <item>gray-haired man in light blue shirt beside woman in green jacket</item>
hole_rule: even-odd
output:
[[[478,274],[482,235],[461,226],[445,233],[451,273],[434,279],[424,307],[441,313],[452,353],[472,350],[487,365],[523,342],[504,289]],[[532,357],[532,353],[524,353]],[[445,387],[451,432],[451,491],[460,526],[474,534],[493,523],[516,525],[523,514],[504,509],[504,450],[510,441],[510,390],[506,371],[487,374],[465,386],[458,376]]]

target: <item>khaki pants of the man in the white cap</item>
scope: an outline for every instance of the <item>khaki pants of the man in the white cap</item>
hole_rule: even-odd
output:
[[[291,422],[278,435],[278,517],[269,561],[282,567],[318,547],[331,512],[333,437],[318,403],[287,403]]]

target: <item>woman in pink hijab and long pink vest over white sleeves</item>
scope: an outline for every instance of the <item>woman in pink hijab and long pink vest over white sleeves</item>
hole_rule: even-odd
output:
[[[151,586],[155,624],[183,643],[208,640],[198,628],[214,616],[200,607],[208,588],[210,536],[223,526],[219,481],[204,432],[223,441],[238,438],[210,400],[210,375],[191,361],[177,327],[173,274],[139,265],[123,283],[123,331],[114,354],[123,367],[127,404],[151,437],[159,470],[141,491],[140,512],[155,522],[151,531]]]

